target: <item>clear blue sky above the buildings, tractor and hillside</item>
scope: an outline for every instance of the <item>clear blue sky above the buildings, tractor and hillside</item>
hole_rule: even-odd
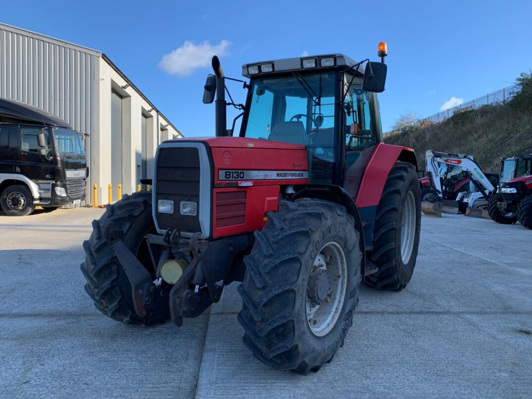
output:
[[[532,3],[512,0],[0,0],[0,22],[104,52],[189,137],[214,135],[214,105],[201,101],[206,50],[222,54],[226,76],[241,78],[244,63],[304,52],[378,61],[377,44],[385,40],[386,131],[401,114],[431,115],[452,97],[468,101],[531,69],[531,13]],[[161,62],[173,51],[177,57]],[[244,102],[242,86],[228,86]]]

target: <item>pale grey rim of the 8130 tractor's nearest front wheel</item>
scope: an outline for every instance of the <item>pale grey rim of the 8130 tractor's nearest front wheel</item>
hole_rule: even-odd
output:
[[[312,334],[323,337],[334,328],[344,306],[346,289],[345,253],[337,242],[331,241],[321,248],[307,278],[306,320]]]

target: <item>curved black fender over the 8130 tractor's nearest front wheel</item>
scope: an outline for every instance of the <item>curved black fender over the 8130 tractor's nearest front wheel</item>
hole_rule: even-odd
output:
[[[349,193],[342,187],[331,184],[297,184],[294,185],[295,193],[292,194],[290,200],[295,201],[298,198],[312,198],[314,200],[323,200],[334,202],[345,207],[347,213],[349,213],[355,219],[355,229],[360,233],[360,252],[362,253],[362,276],[365,272],[365,245],[364,245],[364,227],[362,225],[362,219],[360,219],[359,211],[356,209],[355,202]]]

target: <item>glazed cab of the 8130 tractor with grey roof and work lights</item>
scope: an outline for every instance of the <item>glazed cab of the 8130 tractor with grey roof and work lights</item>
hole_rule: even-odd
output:
[[[361,153],[382,140],[384,63],[364,68],[328,54],[244,64],[242,72],[251,81],[239,135],[306,146],[312,183],[343,186]]]

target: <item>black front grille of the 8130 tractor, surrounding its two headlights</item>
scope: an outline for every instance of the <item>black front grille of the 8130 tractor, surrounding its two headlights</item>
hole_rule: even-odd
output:
[[[173,201],[172,214],[157,212],[159,200]],[[181,215],[181,201],[197,204],[196,216]],[[155,211],[160,230],[195,233],[200,226],[200,153],[195,147],[160,148],[155,176]]]

